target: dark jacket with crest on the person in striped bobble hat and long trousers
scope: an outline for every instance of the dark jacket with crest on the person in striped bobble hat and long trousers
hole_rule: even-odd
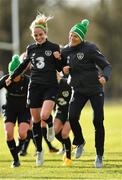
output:
[[[63,66],[70,66],[70,84],[75,91],[86,95],[103,91],[98,75],[101,71],[108,80],[111,65],[94,44],[85,41],[74,47],[66,45],[62,50],[62,60]]]

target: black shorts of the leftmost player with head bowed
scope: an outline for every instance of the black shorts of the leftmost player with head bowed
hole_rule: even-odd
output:
[[[16,123],[18,124],[25,122],[30,124],[31,114],[29,109],[12,109],[8,108],[7,106],[3,109],[3,115],[6,122]]]

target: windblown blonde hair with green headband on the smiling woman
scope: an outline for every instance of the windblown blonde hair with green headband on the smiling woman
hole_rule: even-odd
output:
[[[35,20],[30,25],[30,30],[33,31],[35,28],[41,28],[44,32],[48,31],[47,22],[53,19],[52,16],[45,16],[44,14],[41,14],[38,12],[38,15],[36,16]]]

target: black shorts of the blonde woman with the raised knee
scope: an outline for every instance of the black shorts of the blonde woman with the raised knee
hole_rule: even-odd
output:
[[[40,84],[30,84],[27,104],[30,108],[40,108],[44,100],[55,101],[58,90],[58,86],[48,87]]]

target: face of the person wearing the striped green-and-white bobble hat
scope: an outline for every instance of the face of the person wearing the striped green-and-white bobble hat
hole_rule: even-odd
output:
[[[70,46],[77,46],[81,43],[81,39],[79,36],[73,32],[69,33],[69,45]]]

